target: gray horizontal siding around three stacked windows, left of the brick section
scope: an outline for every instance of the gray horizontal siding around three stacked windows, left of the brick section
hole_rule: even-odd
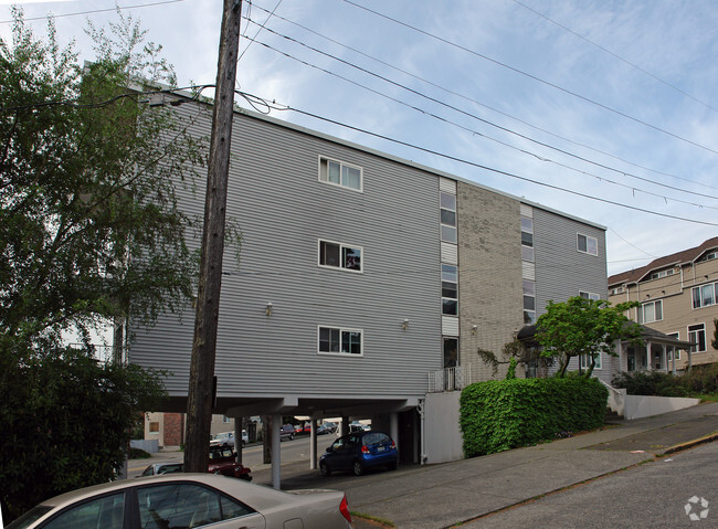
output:
[[[209,123],[192,133],[209,135]],[[442,364],[439,178],[244,115],[232,150],[226,213],[242,247],[239,265],[232,248],[224,257],[219,396],[423,394]],[[363,192],[319,182],[320,155],[362,167]],[[201,214],[203,201],[201,184],[187,211]],[[319,239],[363,247],[363,273],[320,268]],[[362,329],[365,356],[318,355],[318,325]],[[181,322],[162,316],[136,329],[130,359],[170,369],[170,395],[186,394],[192,332],[190,309]]]

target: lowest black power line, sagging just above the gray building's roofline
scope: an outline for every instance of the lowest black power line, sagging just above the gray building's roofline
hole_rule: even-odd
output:
[[[244,94],[242,94],[242,95],[244,95]],[[707,222],[707,221],[700,221],[700,220],[696,220],[696,219],[687,219],[687,218],[684,218],[684,216],[671,215],[671,214],[667,214],[667,213],[659,213],[657,211],[652,211],[652,210],[646,210],[644,208],[637,208],[637,207],[634,207],[634,205],[623,204],[621,202],[615,202],[613,200],[602,199],[600,197],[593,197],[591,194],[582,193],[580,191],[573,191],[571,189],[561,188],[560,186],[553,186],[551,183],[540,182],[538,180],[534,180],[534,179],[528,178],[528,177],[521,177],[520,174],[504,171],[504,170],[496,169],[496,168],[493,168],[493,167],[489,167],[489,166],[484,166],[482,163],[477,163],[477,162],[474,162],[474,161],[468,161],[468,160],[465,160],[463,158],[458,158],[458,157],[453,156],[453,155],[446,155],[444,152],[432,150],[432,149],[429,149],[429,148],[425,148],[425,147],[419,147],[419,146],[410,144],[408,141],[391,138],[389,136],[381,135],[381,134],[378,134],[378,133],[372,133],[370,130],[366,130],[366,129],[362,129],[362,128],[359,128],[359,127],[355,127],[352,125],[347,125],[347,124],[338,121],[336,119],[323,117],[323,116],[319,116],[319,115],[310,113],[310,112],[300,110],[298,108],[294,108],[294,107],[291,107],[288,105],[287,106],[278,106],[276,103],[273,103],[273,104],[267,103],[267,106],[270,106],[273,110],[295,112],[297,114],[302,114],[304,116],[312,117],[314,119],[318,119],[318,120],[326,121],[326,123],[329,123],[329,124],[332,124],[332,125],[337,125],[339,127],[344,127],[344,128],[347,128],[349,130],[355,130],[357,133],[361,133],[361,134],[365,134],[365,135],[368,135],[368,136],[372,136],[374,138],[383,139],[386,141],[391,141],[393,144],[401,145],[403,147],[409,147],[411,149],[420,150],[420,151],[426,152],[429,155],[437,156],[437,157],[441,157],[441,158],[444,158],[444,159],[447,159],[447,160],[456,161],[458,163],[464,163],[466,166],[475,167],[477,169],[483,169],[483,170],[486,170],[486,171],[489,171],[489,172],[494,172],[496,174],[514,178],[514,179],[517,179],[517,180],[534,183],[534,184],[541,186],[541,187],[545,187],[545,188],[555,189],[557,191],[563,191],[563,192],[567,192],[567,193],[570,193],[570,194],[574,194],[577,197],[582,197],[584,199],[595,200],[598,202],[603,202],[603,203],[606,203],[606,204],[616,205],[616,207],[625,208],[625,209],[633,210],[633,211],[640,211],[642,213],[648,213],[648,214],[656,215],[656,216],[663,216],[663,218],[666,218],[666,219],[673,219],[673,220],[678,220],[678,221],[684,221],[684,222],[691,222],[691,223],[695,223],[695,224],[704,224],[704,225],[708,225],[708,226],[718,226],[718,223],[715,223],[715,222]]]

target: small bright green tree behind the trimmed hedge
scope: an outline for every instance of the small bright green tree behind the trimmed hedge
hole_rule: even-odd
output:
[[[542,347],[541,356],[558,359],[557,375],[563,377],[571,358],[588,355],[591,366],[585,377],[591,377],[599,353],[617,356],[616,340],[643,343],[641,327],[625,316],[626,310],[637,305],[630,301],[611,306],[603,299],[580,296],[566,303],[549,301],[546,313],[536,324],[536,340]]]

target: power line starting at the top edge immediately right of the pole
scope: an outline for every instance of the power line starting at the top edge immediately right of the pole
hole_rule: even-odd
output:
[[[261,6],[254,6],[254,7],[255,7],[256,9],[260,9],[261,11],[264,11],[265,13],[270,13],[270,11],[267,11],[267,10],[264,9],[264,8],[262,8]],[[324,34],[321,34],[321,33],[319,33],[319,32],[317,32],[317,31],[315,31],[315,30],[313,30],[313,29],[310,29],[310,28],[307,28],[306,25],[299,24],[298,22],[295,22],[295,21],[292,21],[292,20],[289,20],[289,19],[287,19],[287,18],[281,17],[281,15],[276,14],[274,11],[272,11],[272,13],[270,13],[270,14],[273,15],[275,19],[283,20],[284,22],[287,22],[287,23],[289,23],[289,24],[292,24],[292,25],[295,25],[295,27],[297,27],[297,28],[300,28],[300,29],[303,29],[304,31],[307,31],[307,32],[309,32],[309,33],[312,33],[312,34],[314,34],[314,35],[316,35],[316,36],[319,36],[320,39],[327,40],[327,41],[329,41],[329,42],[331,42],[331,43],[334,43],[334,44],[337,44],[337,45],[339,45],[339,46],[341,46],[341,47],[344,47],[344,49],[346,49],[346,50],[350,50],[350,51],[352,51],[352,52],[355,52],[355,53],[358,53],[359,55],[361,55],[361,56],[363,56],[363,57],[367,57],[367,59],[369,59],[369,60],[371,60],[371,61],[374,61],[374,62],[377,62],[377,63],[379,63],[379,64],[382,64],[382,65],[384,65],[384,66],[387,66],[387,67],[390,67],[390,68],[392,68],[392,70],[394,70],[394,71],[397,71],[397,72],[400,72],[400,73],[402,73],[402,74],[404,74],[404,75],[408,75],[408,76],[410,76],[410,77],[413,77],[413,78],[415,78],[415,80],[418,80],[418,81],[421,81],[422,83],[426,83],[426,84],[429,84],[430,86],[433,86],[433,87],[435,87],[435,88],[441,89],[442,92],[445,92],[445,93],[447,93],[447,94],[454,95],[454,96],[456,96],[456,97],[461,97],[462,99],[465,99],[465,100],[467,100],[467,102],[469,102],[469,103],[473,103],[473,104],[475,104],[475,105],[478,105],[478,106],[481,106],[481,107],[487,108],[487,109],[489,109],[489,110],[492,110],[492,112],[495,112],[495,113],[497,113],[497,114],[499,114],[499,115],[501,115],[501,116],[504,116],[504,117],[508,117],[509,119],[513,119],[513,120],[515,120],[515,121],[518,121],[518,123],[520,123],[520,124],[522,124],[522,125],[526,125],[526,126],[528,126],[528,127],[531,127],[531,128],[534,128],[534,129],[536,129],[536,130],[539,130],[539,131],[541,131],[541,133],[548,134],[548,135],[550,135],[550,136],[552,136],[552,137],[555,137],[555,138],[558,138],[558,139],[560,139],[560,140],[562,140],[562,141],[567,141],[567,142],[572,144],[572,145],[576,145],[576,146],[578,146],[578,147],[583,147],[583,148],[585,148],[585,149],[592,150],[593,152],[598,152],[598,154],[600,154],[600,155],[606,156],[606,157],[609,157],[609,158],[612,158],[612,159],[614,159],[614,160],[621,161],[621,162],[623,162],[623,163],[627,163],[627,165],[633,166],[633,167],[635,167],[635,168],[643,169],[643,170],[645,170],[645,171],[650,171],[650,172],[653,172],[653,173],[656,173],[656,174],[663,174],[664,177],[674,178],[674,179],[676,179],[676,180],[683,180],[683,181],[685,181],[685,182],[689,182],[689,183],[691,183],[691,184],[694,184],[694,186],[701,186],[701,187],[709,188],[709,189],[718,189],[718,187],[709,186],[709,184],[704,183],[704,182],[697,182],[697,181],[695,181],[695,180],[690,180],[690,179],[688,179],[688,178],[679,177],[679,176],[677,176],[677,174],[673,174],[673,173],[664,172],[664,171],[661,171],[661,170],[657,170],[657,169],[653,169],[653,168],[650,168],[650,167],[645,167],[645,166],[642,166],[642,165],[640,165],[640,163],[635,163],[635,162],[632,162],[632,161],[626,160],[626,159],[624,159],[624,158],[621,158],[621,157],[619,157],[619,156],[612,155],[612,154],[610,154],[610,152],[603,151],[603,150],[598,149],[598,148],[595,148],[595,147],[591,147],[590,145],[582,144],[582,142],[580,142],[580,141],[576,141],[576,140],[572,140],[572,139],[566,138],[566,137],[560,136],[560,135],[558,135],[558,134],[556,134],[556,133],[552,133],[552,131],[550,131],[550,130],[547,130],[547,129],[545,129],[545,128],[541,128],[541,127],[538,127],[538,126],[536,126],[536,125],[534,125],[534,124],[530,124],[530,123],[528,123],[528,121],[526,121],[526,120],[524,120],[524,119],[520,119],[520,118],[518,118],[518,117],[516,117],[516,116],[511,116],[510,114],[507,114],[507,113],[505,113],[505,112],[503,112],[503,110],[499,110],[499,109],[497,109],[497,108],[494,108],[494,107],[492,107],[492,106],[489,106],[489,105],[486,105],[486,104],[484,104],[484,103],[481,103],[481,102],[478,102],[478,100],[472,98],[471,96],[467,96],[467,95],[465,95],[465,94],[461,94],[461,93],[458,93],[458,92],[452,91],[451,88],[446,88],[445,86],[442,86],[442,85],[440,85],[440,84],[437,84],[437,83],[434,83],[434,82],[432,82],[432,81],[430,81],[430,80],[426,80],[425,77],[421,77],[420,75],[413,74],[413,73],[411,73],[411,72],[409,72],[409,71],[406,71],[406,70],[403,70],[403,68],[398,67],[398,66],[395,66],[395,65],[393,65],[393,64],[390,64],[390,63],[388,63],[388,62],[386,62],[386,61],[382,61],[381,59],[378,59],[378,57],[376,57],[376,56],[369,55],[369,54],[362,52],[361,50],[358,50],[358,49],[356,49],[356,47],[349,46],[349,45],[347,45],[347,44],[345,44],[345,43],[342,43],[342,42],[337,41],[336,39],[331,39],[330,36],[324,35]],[[267,20],[268,20],[268,18],[267,18]],[[255,23],[256,23],[256,22],[255,22]],[[266,22],[265,22],[265,24],[266,24]],[[256,35],[255,35],[255,36],[256,36]],[[662,187],[669,188],[669,186],[667,186],[667,184],[663,184],[663,183],[661,183],[661,182],[656,182],[656,181],[653,181],[653,180],[650,180],[650,179],[645,179],[645,178],[643,178],[643,177],[638,177],[638,176],[633,174],[633,173],[630,173],[630,172],[625,172],[625,171],[619,171],[619,172],[622,172],[622,173],[623,173],[624,176],[626,176],[626,177],[631,177],[631,178],[635,178],[635,179],[638,179],[638,180],[643,180],[643,181],[646,181],[646,182],[650,182],[650,183],[653,183],[653,184],[656,184],[656,186],[662,186]],[[682,189],[678,189],[678,190],[679,190],[679,191],[683,191]]]

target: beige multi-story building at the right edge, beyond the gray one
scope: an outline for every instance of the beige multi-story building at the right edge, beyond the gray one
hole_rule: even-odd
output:
[[[609,301],[638,301],[641,307],[631,310],[631,319],[693,343],[690,355],[677,352],[676,370],[718,362],[718,350],[710,345],[718,318],[718,237],[609,277]],[[645,352],[622,355],[622,369],[673,368],[672,353],[665,358],[655,350]]]

